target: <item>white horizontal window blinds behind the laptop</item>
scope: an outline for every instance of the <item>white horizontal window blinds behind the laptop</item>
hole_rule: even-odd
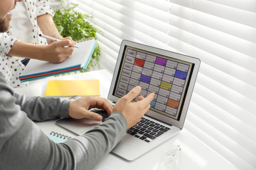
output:
[[[186,130],[239,169],[256,168],[255,0],[71,0],[93,16],[100,68],[123,39],[200,58]]]

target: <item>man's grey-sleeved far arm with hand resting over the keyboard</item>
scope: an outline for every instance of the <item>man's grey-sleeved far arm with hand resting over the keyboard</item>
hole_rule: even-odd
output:
[[[87,96],[80,99],[60,99],[45,97],[30,97],[14,93],[16,105],[20,110],[26,112],[28,118],[36,121],[51,120],[60,117],[72,117],[75,119],[90,118],[101,121],[102,116],[91,112],[90,109],[104,109],[112,114],[112,105],[102,97]]]

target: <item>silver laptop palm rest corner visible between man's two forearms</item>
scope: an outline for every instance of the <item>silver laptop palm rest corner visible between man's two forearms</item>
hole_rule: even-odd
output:
[[[93,129],[93,127],[97,126],[98,124],[101,124],[101,122],[97,122],[89,118],[62,118],[58,120],[56,124],[76,133],[77,135],[83,135],[87,131]]]

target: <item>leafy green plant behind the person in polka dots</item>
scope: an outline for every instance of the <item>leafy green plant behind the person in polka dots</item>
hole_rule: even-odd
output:
[[[74,41],[79,41],[81,39],[87,39],[93,37],[96,39],[96,32],[100,31],[86,19],[92,18],[87,14],[81,14],[75,10],[77,4],[69,4],[66,7],[62,5],[58,10],[54,11],[54,23],[62,37],[72,37]],[[86,70],[80,71],[81,73],[89,71],[90,68],[98,65],[98,56],[100,56],[100,47],[96,44],[95,51]],[[93,65],[93,60],[96,61]]]

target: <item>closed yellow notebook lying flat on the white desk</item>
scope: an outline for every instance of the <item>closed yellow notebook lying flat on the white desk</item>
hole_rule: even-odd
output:
[[[49,80],[45,97],[100,96],[100,80]]]

